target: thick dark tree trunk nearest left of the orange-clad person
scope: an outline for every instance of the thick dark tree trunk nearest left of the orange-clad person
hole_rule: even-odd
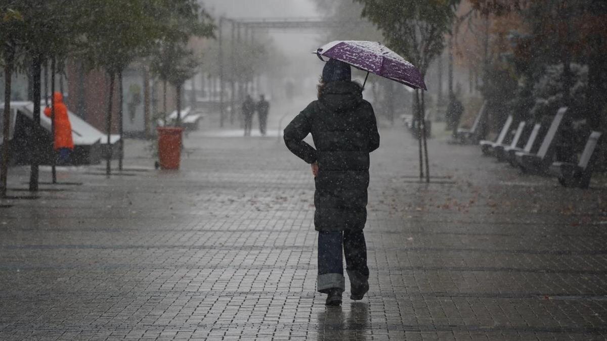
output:
[[[33,92],[33,126],[32,126],[32,141],[30,147],[32,148],[32,165],[30,167],[30,191],[38,191],[38,177],[39,177],[39,166],[40,166],[40,152],[41,146],[39,143],[42,129],[40,129],[40,101],[41,101],[41,73],[42,73],[42,56],[36,55],[32,61],[32,92]],[[54,136],[52,137],[55,138]]]

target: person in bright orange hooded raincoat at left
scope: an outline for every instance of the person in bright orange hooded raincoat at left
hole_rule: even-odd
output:
[[[59,92],[53,93],[55,99],[55,141],[53,149],[59,152],[59,164],[70,163],[70,156],[74,149],[72,140],[72,124],[67,115],[67,107],[63,103],[63,95]],[[44,109],[44,115],[51,116],[50,107]]]

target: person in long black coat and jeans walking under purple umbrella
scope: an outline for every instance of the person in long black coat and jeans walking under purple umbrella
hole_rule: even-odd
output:
[[[316,149],[303,141],[308,133]],[[284,138],[293,154],[311,164],[316,183],[317,290],[328,294],[325,304],[341,304],[343,248],[350,298],[361,300],[369,288],[362,232],[367,221],[369,153],[378,149],[379,133],[373,107],[362,99],[362,87],[351,81],[348,64],[334,59],[327,62],[318,100],[288,124]]]

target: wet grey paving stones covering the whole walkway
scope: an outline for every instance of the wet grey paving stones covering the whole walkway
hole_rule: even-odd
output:
[[[0,339],[605,339],[607,190],[565,189],[382,129],[365,234],[371,289],[316,292],[313,178],[276,137],[200,131],[178,172],[59,169],[0,206]],[[223,136],[223,137],[221,137]],[[27,169],[10,195],[29,195]],[[47,168],[42,177],[50,177]],[[349,286],[347,285],[347,288]]]

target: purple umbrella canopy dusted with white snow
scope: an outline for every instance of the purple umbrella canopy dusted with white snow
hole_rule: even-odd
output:
[[[374,41],[332,41],[316,50],[320,59],[328,57],[350,64],[356,69],[375,73],[413,89],[427,90],[424,78],[410,62]]]

